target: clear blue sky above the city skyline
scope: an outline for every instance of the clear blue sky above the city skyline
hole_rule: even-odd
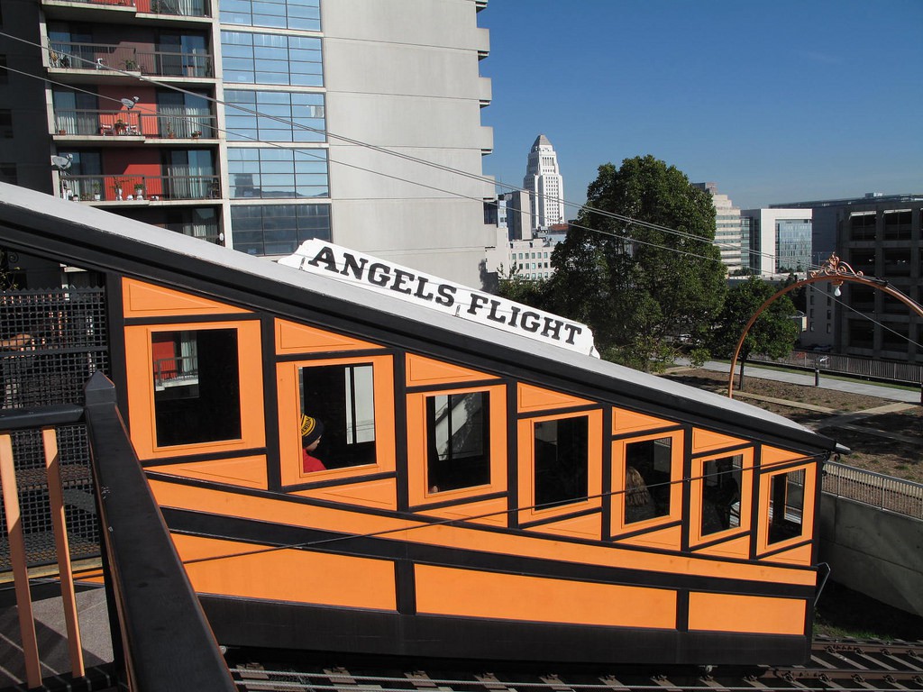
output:
[[[923,0],[489,0],[478,24],[498,181],[545,134],[575,203],[645,154],[743,209],[923,193]]]

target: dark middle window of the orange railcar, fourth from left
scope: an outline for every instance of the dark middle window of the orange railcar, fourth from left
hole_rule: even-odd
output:
[[[535,423],[535,506],[585,500],[588,491],[589,419],[586,416]]]

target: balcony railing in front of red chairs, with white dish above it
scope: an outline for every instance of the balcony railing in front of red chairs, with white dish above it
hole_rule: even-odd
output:
[[[59,135],[84,137],[217,137],[215,117],[209,113],[142,113],[140,111],[55,111]]]

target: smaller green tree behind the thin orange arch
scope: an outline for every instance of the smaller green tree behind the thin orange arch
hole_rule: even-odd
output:
[[[778,288],[769,281],[750,277],[727,292],[725,307],[711,335],[713,354],[723,358],[733,356],[737,341],[750,317],[777,291]],[[763,310],[759,319],[749,328],[747,338],[740,347],[737,356],[740,380],[737,388],[744,388],[744,365],[751,353],[781,358],[792,352],[798,337],[798,328],[793,319],[796,313],[795,304],[787,294],[779,296]]]

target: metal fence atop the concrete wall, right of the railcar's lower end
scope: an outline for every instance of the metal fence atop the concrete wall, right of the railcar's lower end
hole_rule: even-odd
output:
[[[823,465],[823,491],[923,519],[923,483],[828,461]]]

